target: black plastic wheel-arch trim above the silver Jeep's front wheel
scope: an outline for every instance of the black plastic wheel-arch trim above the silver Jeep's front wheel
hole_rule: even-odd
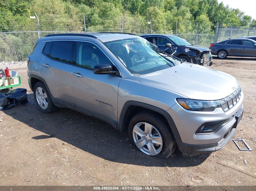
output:
[[[125,124],[127,117],[130,115],[130,113],[127,113],[128,111],[128,108],[130,106],[138,106],[138,107],[143,107],[145,109],[148,109],[148,110],[151,110],[151,111],[154,111],[156,113],[159,113],[161,114],[162,116],[165,117],[165,119],[167,120],[170,128],[171,128],[171,131],[175,137],[175,140],[177,142],[177,145],[178,147],[180,147],[179,145],[181,145],[181,137],[179,135],[179,132],[178,132],[178,129],[177,127],[175,126],[175,123],[173,121],[173,119],[171,118],[171,116],[169,115],[169,113],[167,113],[167,111],[165,110],[162,110],[161,108],[158,108],[158,107],[155,107],[153,105],[149,105],[147,103],[142,103],[142,102],[138,102],[138,101],[127,101],[125,104],[124,104],[124,107],[121,111],[121,114],[120,114],[120,119],[118,121],[118,126],[119,126],[119,130],[121,131],[125,131],[127,130],[128,128],[128,124]]]

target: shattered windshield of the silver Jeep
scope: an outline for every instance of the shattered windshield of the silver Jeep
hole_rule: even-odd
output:
[[[157,48],[141,37],[105,42],[104,45],[133,75],[148,74],[180,64],[159,54]]]

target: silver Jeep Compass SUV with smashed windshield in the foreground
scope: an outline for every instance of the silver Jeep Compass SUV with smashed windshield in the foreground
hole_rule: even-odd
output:
[[[68,107],[102,119],[159,158],[176,145],[184,157],[219,150],[243,114],[233,76],[181,63],[133,34],[41,38],[28,57],[28,82],[42,112]]]

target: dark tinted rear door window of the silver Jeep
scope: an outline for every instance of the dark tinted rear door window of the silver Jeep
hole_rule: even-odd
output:
[[[50,58],[71,64],[73,61],[73,50],[73,41],[53,41]]]

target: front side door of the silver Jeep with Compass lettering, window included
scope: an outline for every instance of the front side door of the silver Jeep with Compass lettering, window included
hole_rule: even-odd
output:
[[[75,107],[83,113],[113,123],[117,121],[118,85],[121,78],[94,74],[92,68],[96,64],[111,64],[111,61],[96,45],[78,42],[76,65],[71,66],[70,70]]]

